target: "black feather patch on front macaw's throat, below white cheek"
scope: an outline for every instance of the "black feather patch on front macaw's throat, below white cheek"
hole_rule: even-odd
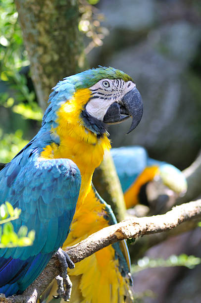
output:
[[[102,138],[106,133],[106,124],[90,115],[86,108],[81,112],[80,117],[83,120],[86,129],[95,133],[98,139]]]

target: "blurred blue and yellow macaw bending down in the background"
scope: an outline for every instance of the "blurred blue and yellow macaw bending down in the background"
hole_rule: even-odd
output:
[[[127,146],[111,149],[111,155],[124,193],[127,208],[138,203],[149,204],[144,193],[146,185],[160,178],[163,185],[177,195],[184,195],[187,182],[183,173],[175,166],[151,159],[145,148]]]

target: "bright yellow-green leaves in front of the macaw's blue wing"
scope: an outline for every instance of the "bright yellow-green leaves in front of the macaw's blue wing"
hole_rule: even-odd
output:
[[[34,230],[28,232],[26,226],[21,226],[18,233],[14,232],[13,225],[10,221],[18,219],[20,213],[20,209],[14,209],[8,202],[0,205],[0,248],[33,245],[35,239]]]

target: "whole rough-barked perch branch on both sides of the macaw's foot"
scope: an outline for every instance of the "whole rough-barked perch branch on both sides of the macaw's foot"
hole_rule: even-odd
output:
[[[87,256],[120,240],[139,238],[143,235],[171,230],[182,222],[198,216],[201,216],[201,200],[176,206],[163,215],[132,218],[118,224],[105,227],[74,247],[68,248],[67,253],[71,257],[72,261],[77,263]],[[7,303],[35,303],[37,297],[39,298],[52,279],[58,274],[59,263],[57,258],[53,256],[44,271],[22,295],[12,297],[11,299],[0,298],[0,301]]]

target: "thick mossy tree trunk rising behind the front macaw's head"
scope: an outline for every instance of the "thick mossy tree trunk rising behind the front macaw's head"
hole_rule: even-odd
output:
[[[40,106],[66,76],[87,69],[78,0],[15,0]]]

